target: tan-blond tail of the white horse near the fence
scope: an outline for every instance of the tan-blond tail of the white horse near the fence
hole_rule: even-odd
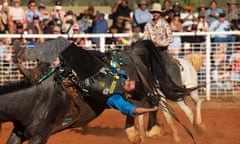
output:
[[[188,62],[192,64],[196,72],[199,72],[203,64],[203,55],[201,53],[190,54],[184,57]]]

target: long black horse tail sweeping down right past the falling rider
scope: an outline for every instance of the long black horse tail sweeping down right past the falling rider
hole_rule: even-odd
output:
[[[141,50],[142,49],[142,50]],[[133,52],[141,57],[143,62],[148,66],[152,79],[149,83],[155,83],[158,80],[160,90],[163,94],[173,101],[177,101],[188,95],[190,89],[175,84],[166,70],[166,60],[162,53],[157,50],[150,40],[140,40],[133,45]],[[154,81],[153,81],[154,80]]]

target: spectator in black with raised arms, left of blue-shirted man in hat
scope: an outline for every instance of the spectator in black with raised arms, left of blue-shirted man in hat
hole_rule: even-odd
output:
[[[112,8],[113,23],[116,23],[117,17],[122,16],[122,19],[125,21],[132,21],[131,14],[132,10],[128,6],[127,0],[117,0]]]

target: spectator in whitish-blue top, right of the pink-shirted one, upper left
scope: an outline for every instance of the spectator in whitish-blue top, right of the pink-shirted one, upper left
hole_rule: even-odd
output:
[[[28,9],[26,10],[26,20],[27,24],[33,21],[33,16],[36,15],[40,17],[40,12],[36,8],[37,2],[35,0],[28,1]]]

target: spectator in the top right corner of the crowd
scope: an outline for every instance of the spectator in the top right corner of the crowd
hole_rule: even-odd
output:
[[[226,10],[226,19],[231,22],[232,20],[238,19],[238,2],[236,0],[229,0],[227,2],[227,10]]]

